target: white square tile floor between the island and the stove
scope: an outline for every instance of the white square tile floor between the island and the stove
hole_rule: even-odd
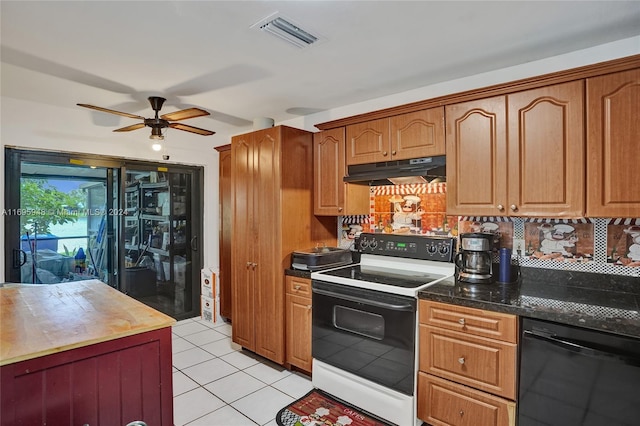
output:
[[[231,342],[231,326],[191,318],[173,326],[176,426],[275,426],[278,410],[312,388],[286,370]]]

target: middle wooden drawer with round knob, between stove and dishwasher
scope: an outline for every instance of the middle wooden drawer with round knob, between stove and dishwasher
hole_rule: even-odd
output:
[[[516,345],[420,324],[420,370],[516,399]]]

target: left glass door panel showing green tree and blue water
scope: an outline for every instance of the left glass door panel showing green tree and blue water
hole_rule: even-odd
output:
[[[64,158],[43,162],[40,156],[8,153],[7,173],[13,175],[5,203],[9,281],[99,279],[117,286],[109,244],[117,226],[109,218],[117,205],[112,191],[117,169]]]

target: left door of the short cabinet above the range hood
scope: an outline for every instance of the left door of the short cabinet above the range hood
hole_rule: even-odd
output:
[[[347,166],[390,160],[388,118],[347,126]]]

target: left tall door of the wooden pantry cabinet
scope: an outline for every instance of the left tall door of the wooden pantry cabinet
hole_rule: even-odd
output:
[[[254,150],[250,135],[233,138],[231,143],[231,194],[234,241],[231,245],[231,300],[234,321],[233,341],[255,350],[253,258],[253,163]]]

